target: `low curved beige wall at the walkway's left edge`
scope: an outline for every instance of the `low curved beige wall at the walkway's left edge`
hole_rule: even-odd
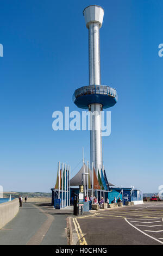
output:
[[[18,199],[0,204],[0,228],[2,228],[17,215],[18,209]]]

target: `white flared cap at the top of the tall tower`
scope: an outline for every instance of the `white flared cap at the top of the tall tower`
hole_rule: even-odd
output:
[[[83,11],[86,27],[89,28],[89,23],[97,22],[101,28],[104,17],[104,9],[99,5],[89,5]]]

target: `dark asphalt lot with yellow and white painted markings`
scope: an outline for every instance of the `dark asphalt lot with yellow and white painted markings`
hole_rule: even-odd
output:
[[[163,245],[163,202],[72,218],[74,245]]]

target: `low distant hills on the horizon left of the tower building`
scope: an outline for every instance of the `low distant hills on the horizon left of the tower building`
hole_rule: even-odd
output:
[[[9,191],[9,192],[3,192],[3,197],[9,197],[11,194],[11,197],[17,198],[18,196],[22,197],[51,197],[52,193],[45,193],[45,192],[14,192],[14,191]]]

